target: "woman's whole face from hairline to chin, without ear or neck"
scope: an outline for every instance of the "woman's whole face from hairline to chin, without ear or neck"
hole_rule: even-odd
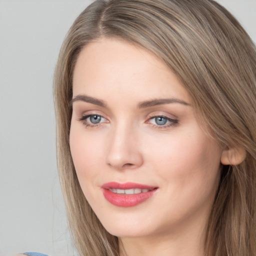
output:
[[[70,149],[84,196],[111,234],[173,235],[205,225],[222,150],[198,126],[178,78],[148,51],[115,39],[83,48]]]

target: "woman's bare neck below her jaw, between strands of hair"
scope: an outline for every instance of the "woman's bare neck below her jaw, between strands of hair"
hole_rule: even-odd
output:
[[[205,222],[190,227],[187,223],[172,232],[159,232],[143,237],[121,237],[120,256],[203,256]]]

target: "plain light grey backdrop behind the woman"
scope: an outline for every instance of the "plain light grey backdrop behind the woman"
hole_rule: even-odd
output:
[[[52,76],[92,0],[0,0],[0,255],[74,255],[55,160]],[[219,0],[256,41],[256,0]]]

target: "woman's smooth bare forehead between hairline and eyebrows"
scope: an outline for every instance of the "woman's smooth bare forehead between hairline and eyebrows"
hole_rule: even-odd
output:
[[[99,98],[117,95],[133,99],[171,96],[189,101],[177,76],[151,52],[116,39],[87,44],[73,74],[73,96],[86,93]]]

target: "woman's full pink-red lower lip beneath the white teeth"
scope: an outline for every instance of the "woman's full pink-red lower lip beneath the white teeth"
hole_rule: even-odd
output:
[[[155,191],[156,189],[138,194],[118,194],[103,188],[103,195],[110,203],[115,206],[131,207],[147,200],[153,195]]]

